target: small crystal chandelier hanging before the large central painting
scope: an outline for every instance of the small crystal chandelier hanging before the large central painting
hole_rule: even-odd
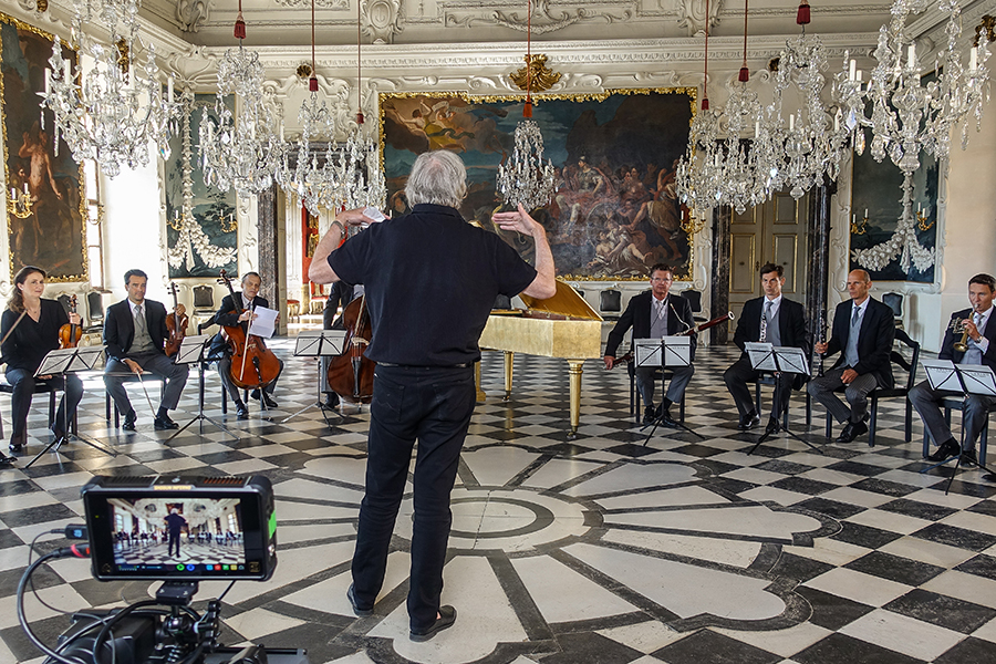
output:
[[[511,157],[498,166],[498,191],[505,205],[526,210],[546,207],[553,198],[553,163],[543,164],[543,135],[532,118],[532,0],[527,0],[526,30],[526,105],[516,126],[516,148]]]

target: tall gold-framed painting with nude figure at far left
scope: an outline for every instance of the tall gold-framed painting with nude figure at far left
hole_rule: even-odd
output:
[[[3,118],[4,198],[27,194],[29,209],[8,214],[10,273],[38,266],[50,281],[85,281],[86,197],[83,168],[60,138],[53,141],[52,113],[42,122],[39,92],[54,37],[12,17],[0,14],[0,115]],[[62,43],[62,56],[76,69],[76,52]],[[24,215],[24,212],[28,212]]]

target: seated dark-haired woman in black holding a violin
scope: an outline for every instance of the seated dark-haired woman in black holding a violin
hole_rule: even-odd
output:
[[[45,271],[33,266],[21,268],[14,277],[14,290],[7,309],[0,317],[0,352],[7,363],[7,381],[13,386],[11,452],[21,452],[28,443],[28,412],[38,383],[64,391],[59,413],[52,423],[52,433],[56,438],[65,437],[65,424],[76,416],[76,406],[83,397],[83,383],[73,374],[34,377],[49,351],[60,347],[60,329],[66,328],[62,336],[66,343],[75,345],[79,339],[75,332],[81,325],[80,314],[66,314],[55,300],[42,299],[44,292]],[[0,459],[0,463],[7,458]]]

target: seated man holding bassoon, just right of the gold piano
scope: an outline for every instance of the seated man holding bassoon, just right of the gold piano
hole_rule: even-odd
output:
[[[605,345],[605,369],[615,365],[615,352],[622,343],[626,331],[633,329],[633,339],[661,339],[674,335],[695,326],[692,319],[692,305],[681,297],[671,295],[671,284],[674,283],[674,272],[671,267],[657,263],[651,268],[651,290],[634,295],[630,299],[626,310],[619,318],[612,332],[609,333],[609,342]],[[696,336],[692,335],[692,359],[695,359]],[[643,421],[650,422],[661,417],[667,425],[677,424],[671,416],[671,404],[682,400],[685,387],[695,373],[695,367],[675,366],[671,384],[667,386],[667,395],[661,405],[654,408],[654,373],[652,366],[637,366],[636,388],[643,398]]]

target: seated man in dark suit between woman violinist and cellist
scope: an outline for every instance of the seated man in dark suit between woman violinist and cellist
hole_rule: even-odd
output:
[[[135,430],[135,409],[124,388],[127,373],[151,372],[166,378],[163,401],[156,413],[155,427],[159,430],[178,428],[169,418],[169,411],[179,403],[187,383],[187,365],[175,364],[166,356],[165,344],[169,336],[166,329],[166,308],[160,302],[145,299],[148,276],[142,270],[125,272],[127,300],[107,308],[104,320],[104,343],[107,346],[107,366],[104,385],[117,409],[125,414],[122,428]],[[184,305],[177,307],[183,315]]]

